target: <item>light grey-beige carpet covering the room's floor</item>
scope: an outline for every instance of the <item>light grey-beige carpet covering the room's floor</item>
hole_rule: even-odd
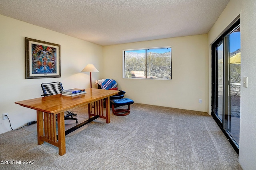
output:
[[[85,109],[73,110],[79,118]],[[70,124],[65,121],[67,126]],[[36,124],[0,134],[1,170],[242,170],[238,155],[207,113],[144,104],[111,113],[66,137],[66,154],[37,145]],[[17,164],[16,161],[34,161]],[[25,162],[26,163],[26,162]]]

